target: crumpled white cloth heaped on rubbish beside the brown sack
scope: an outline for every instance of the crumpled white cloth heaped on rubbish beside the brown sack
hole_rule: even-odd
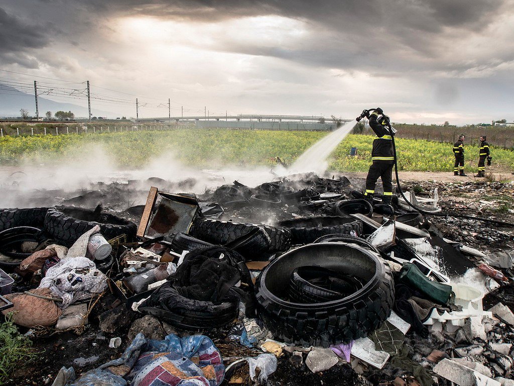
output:
[[[60,307],[66,308],[73,302],[105,291],[107,276],[86,257],[67,257],[46,271],[38,288],[49,288],[63,300]]]

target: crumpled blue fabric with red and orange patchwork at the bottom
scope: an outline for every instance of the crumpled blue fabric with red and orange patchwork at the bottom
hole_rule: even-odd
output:
[[[54,382],[52,386],[217,386],[225,377],[221,354],[203,335],[179,338],[170,334],[158,341],[147,340],[140,333],[120,358],[85,373],[77,381],[71,376],[71,367],[64,370],[67,383]]]

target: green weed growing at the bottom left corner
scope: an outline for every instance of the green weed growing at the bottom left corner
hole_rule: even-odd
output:
[[[7,314],[5,322],[0,323],[0,384],[7,382],[16,365],[35,359],[31,346],[30,339],[14,325],[12,313]]]

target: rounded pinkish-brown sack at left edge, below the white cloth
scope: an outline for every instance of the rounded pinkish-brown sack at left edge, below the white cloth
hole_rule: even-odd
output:
[[[29,292],[54,297],[48,288],[36,288]],[[57,302],[41,299],[25,293],[10,293],[4,296],[14,304],[2,313],[5,315],[14,312],[13,321],[24,327],[34,326],[53,326],[61,316],[62,311],[57,306]]]

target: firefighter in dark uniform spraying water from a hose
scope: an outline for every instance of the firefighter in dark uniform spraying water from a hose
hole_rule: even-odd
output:
[[[394,152],[393,138],[389,132],[389,117],[383,115],[382,109],[376,109],[373,113],[366,115],[370,121],[370,127],[377,137],[373,141],[373,149],[371,152],[371,160],[373,163],[366,177],[365,199],[373,203],[375,194],[375,185],[378,178],[382,179],[384,188],[382,203],[390,205],[393,198],[393,167]]]

